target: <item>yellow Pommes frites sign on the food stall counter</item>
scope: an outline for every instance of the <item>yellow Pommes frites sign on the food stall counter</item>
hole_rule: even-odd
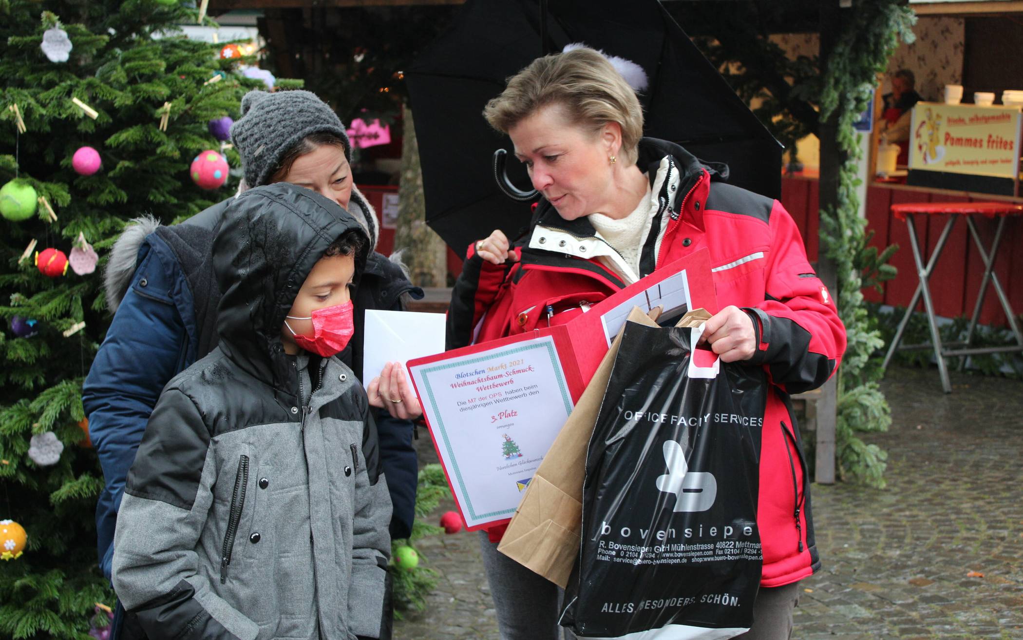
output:
[[[909,168],[1016,178],[1020,108],[917,102]]]

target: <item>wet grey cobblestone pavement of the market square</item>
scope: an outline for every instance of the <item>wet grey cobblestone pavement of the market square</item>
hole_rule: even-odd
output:
[[[1023,639],[1023,383],[952,382],[945,395],[935,370],[889,373],[892,428],[866,438],[889,453],[885,489],[813,485],[824,569],[803,582],[794,639]],[[395,639],[497,640],[476,535],[419,549],[438,589]]]

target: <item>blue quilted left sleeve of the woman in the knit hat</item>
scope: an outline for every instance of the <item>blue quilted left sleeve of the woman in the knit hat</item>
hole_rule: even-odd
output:
[[[96,544],[107,579],[125,478],[160,392],[187,352],[187,332],[173,301],[176,280],[155,252],[142,256],[82,390],[105,480],[96,504]]]

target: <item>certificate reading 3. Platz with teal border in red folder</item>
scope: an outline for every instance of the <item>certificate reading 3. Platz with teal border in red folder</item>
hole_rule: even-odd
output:
[[[553,337],[409,371],[466,527],[510,518],[572,413]]]

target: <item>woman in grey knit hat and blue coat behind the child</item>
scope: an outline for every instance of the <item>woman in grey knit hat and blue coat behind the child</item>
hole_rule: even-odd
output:
[[[251,91],[231,127],[241,156],[243,183],[292,182],[345,208],[365,227],[375,248],[376,215],[353,183],[351,143],[337,114],[309,91]],[[242,188],[246,188],[246,186]],[[164,385],[217,345],[220,292],[212,271],[212,242],[231,201],[180,224],[139,218],[115,245],[105,274],[107,307],[115,312],[83,389],[105,487],[96,508],[100,566],[109,578],[117,505],[125,477]],[[340,355],[359,377],[366,309],[401,310],[404,294],[421,297],[401,267],[372,252],[353,296],[356,334]],[[417,461],[412,423],[418,402],[400,368],[365,372],[380,438],[380,466],[394,506],[392,539],[408,538],[414,517]],[[386,380],[383,380],[386,378]],[[115,634],[123,609],[115,614]],[[390,638],[390,615],[380,637]]]

